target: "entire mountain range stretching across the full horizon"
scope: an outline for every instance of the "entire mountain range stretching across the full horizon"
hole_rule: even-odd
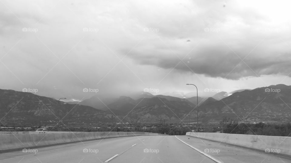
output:
[[[59,110],[60,117],[65,117],[63,121],[67,124],[120,122],[122,119],[122,122],[180,122],[188,114],[194,122],[197,118],[196,101],[196,97],[154,96],[139,92],[119,98],[96,95],[79,104],[70,104],[32,93],[0,90],[1,117],[5,116],[2,121],[6,123],[56,121]],[[287,121],[291,115],[291,86],[278,84],[239,90],[233,94],[220,92],[209,98],[198,97],[198,103],[199,121],[202,122],[219,122],[223,116],[237,121]]]

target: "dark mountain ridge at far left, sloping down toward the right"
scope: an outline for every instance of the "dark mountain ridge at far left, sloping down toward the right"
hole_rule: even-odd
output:
[[[74,105],[33,93],[0,89],[1,122],[39,124],[41,121],[106,121],[106,112],[90,106]],[[107,118],[108,119],[108,118]]]

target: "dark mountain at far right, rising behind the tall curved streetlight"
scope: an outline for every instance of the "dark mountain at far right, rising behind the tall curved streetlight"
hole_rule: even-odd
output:
[[[278,84],[235,92],[219,101],[212,99],[212,102],[204,103],[200,107],[199,113],[200,117],[208,122],[217,121],[222,116],[237,121],[249,119],[280,122],[290,120],[290,107],[291,86]]]

